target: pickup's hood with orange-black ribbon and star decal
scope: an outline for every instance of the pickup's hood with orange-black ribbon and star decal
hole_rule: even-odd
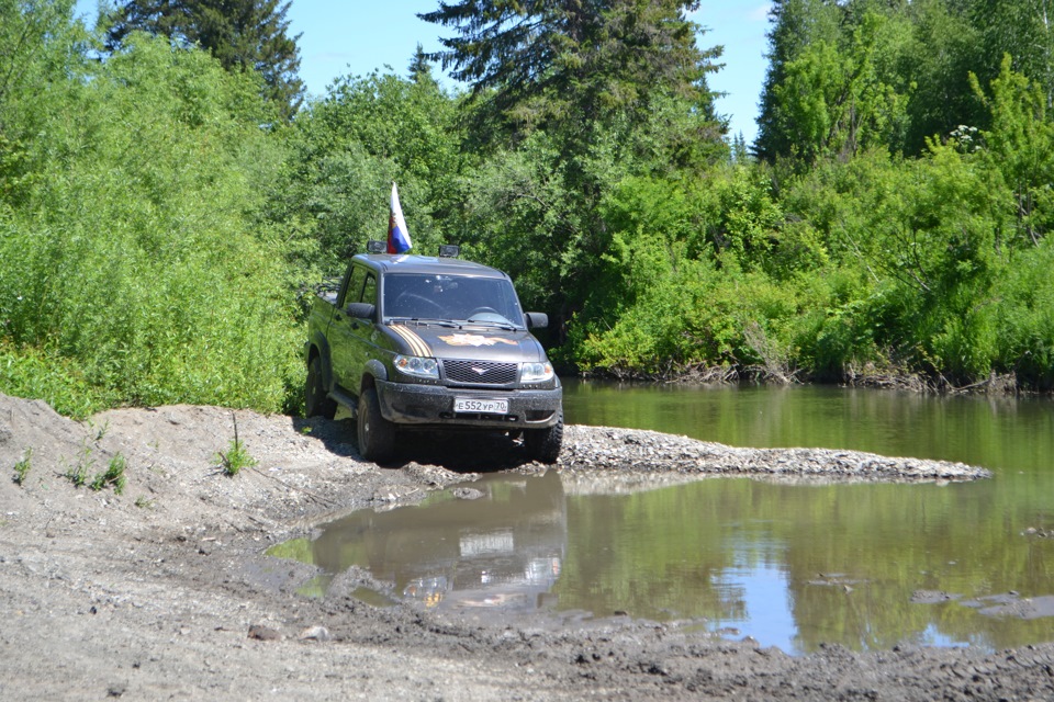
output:
[[[518,363],[545,361],[541,344],[526,329],[506,331],[466,326],[451,329],[439,326],[391,325],[400,346],[413,355],[436,359],[472,359]]]

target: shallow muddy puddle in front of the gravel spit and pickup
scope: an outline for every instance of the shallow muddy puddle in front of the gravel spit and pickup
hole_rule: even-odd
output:
[[[1054,540],[998,557],[939,508],[969,486],[627,485],[486,475],[414,507],[362,510],[271,555],[368,604],[539,625],[631,616],[789,654],[911,642],[987,649],[1054,635]],[[350,582],[350,585],[349,585]]]

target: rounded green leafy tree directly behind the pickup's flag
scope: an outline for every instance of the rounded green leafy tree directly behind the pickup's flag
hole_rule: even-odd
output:
[[[309,105],[291,131],[295,160],[288,207],[310,217],[324,268],[388,230],[391,183],[399,183],[414,248],[435,252],[441,223],[460,203],[462,156],[455,102],[417,72],[344,77]]]

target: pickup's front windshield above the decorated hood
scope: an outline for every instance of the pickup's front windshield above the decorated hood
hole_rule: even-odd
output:
[[[389,319],[450,319],[524,327],[513,284],[504,278],[393,273],[384,276]]]

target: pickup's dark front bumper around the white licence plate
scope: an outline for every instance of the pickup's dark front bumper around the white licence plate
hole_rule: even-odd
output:
[[[561,387],[546,390],[485,390],[377,381],[377,394],[384,419],[422,428],[542,429],[557,423],[563,407]],[[455,414],[455,397],[507,399],[508,414]]]

